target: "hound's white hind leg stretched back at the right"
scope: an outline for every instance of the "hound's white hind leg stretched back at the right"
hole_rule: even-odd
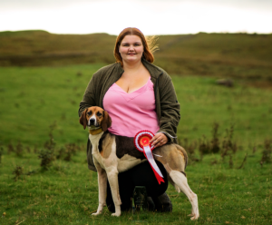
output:
[[[170,178],[180,188],[189,199],[191,203],[191,216],[190,220],[198,220],[199,218],[199,203],[198,196],[190,190],[187,178],[180,171],[170,171]]]

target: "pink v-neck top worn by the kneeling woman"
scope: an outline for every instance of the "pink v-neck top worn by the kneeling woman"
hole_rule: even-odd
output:
[[[132,93],[126,93],[113,83],[103,99],[103,107],[112,118],[108,129],[116,135],[134,137],[137,132],[159,131],[153,83],[148,83]]]

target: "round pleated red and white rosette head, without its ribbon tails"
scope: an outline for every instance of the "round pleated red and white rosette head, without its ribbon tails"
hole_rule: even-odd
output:
[[[154,146],[151,146],[151,139],[154,137],[154,133],[143,130],[141,132],[137,132],[134,137],[134,145],[137,150],[143,152],[143,147],[150,146],[151,151],[154,149]]]

